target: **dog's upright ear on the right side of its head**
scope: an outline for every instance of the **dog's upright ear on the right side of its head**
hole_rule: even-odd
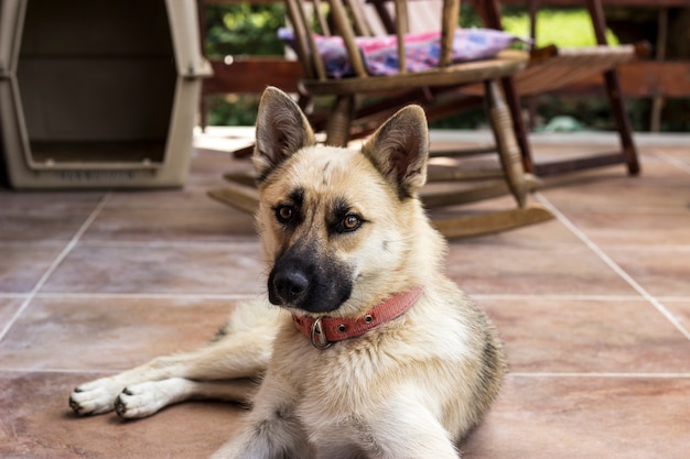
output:
[[[362,152],[398,189],[400,199],[414,195],[427,182],[429,129],[424,110],[409,106],[386,121]]]

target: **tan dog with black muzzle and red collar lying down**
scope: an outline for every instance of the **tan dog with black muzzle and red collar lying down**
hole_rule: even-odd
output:
[[[418,197],[427,119],[409,106],[360,149],[316,145],[269,87],[252,155],[267,294],[203,348],[79,385],[79,415],[190,398],[250,406],[213,458],[456,459],[506,363],[488,317],[444,274]]]

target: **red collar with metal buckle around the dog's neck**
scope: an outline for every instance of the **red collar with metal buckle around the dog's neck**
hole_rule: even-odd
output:
[[[359,337],[381,324],[400,317],[422,294],[423,286],[398,293],[376,305],[360,317],[300,317],[292,315],[294,326],[316,349],[326,349],[333,342]]]

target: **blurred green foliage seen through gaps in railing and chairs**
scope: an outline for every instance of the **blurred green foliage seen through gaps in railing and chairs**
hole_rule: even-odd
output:
[[[472,7],[462,7],[460,24],[481,26]],[[283,55],[284,45],[277,31],[285,23],[282,3],[216,4],[206,9],[205,55],[223,59],[227,55]],[[524,9],[506,7],[503,23],[508,32],[529,36],[529,19]],[[595,44],[590,17],[583,9],[543,9],[537,21],[537,45],[586,46]],[[618,43],[613,32],[610,43]],[[249,76],[250,77],[250,76]],[[208,97],[209,125],[252,125],[256,120],[258,95],[222,95]],[[633,129],[647,131],[651,110],[650,99],[628,99],[626,106]],[[550,129],[550,122],[567,117],[572,122],[565,128],[613,130],[608,102],[603,97],[542,96],[536,106],[536,128]],[[690,100],[666,101],[661,131],[690,131]],[[485,122],[483,109],[477,107],[432,123],[434,129],[476,129]]]

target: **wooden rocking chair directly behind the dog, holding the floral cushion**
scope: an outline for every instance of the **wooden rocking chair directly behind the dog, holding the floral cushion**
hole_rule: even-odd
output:
[[[300,81],[303,100],[332,97],[328,116],[312,114],[315,128],[325,130],[326,143],[345,146],[353,138],[362,136],[375,129],[385,118],[400,107],[418,102],[428,110],[439,110],[448,101],[443,94],[465,85],[481,83],[487,107],[488,121],[494,132],[495,147],[436,153],[432,156],[449,156],[454,164],[457,159],[470,154],[497,152],[499,166],[486,171],[462,171],[455,167],[433,167],[429,179],[433,182],[422,190],[422,200],[429,208],[451,207],[511,194],[516,207],[507,210],[487,211],[434,219],[436,228],[448,238],[459,238],[503,231],[552,218],[551,214],[537,204],[528,204],[527,193],[536,181],[525,173],[520,150],[499,81],[524,69],[529,59],[525,52],[504,50],[494,57],[464,63],[452,62],[452,45],[455,35],[459,0],[443,0],[441,53],[439,65],[422,72],[410,72],[406,65],[405,33],[408,30],[407,3],[395,0],[395,24],[397,36],[398,72],[393,75],[374,76],[367,72],[363,56],[355,42],[356,36],[369,35],[371,28],[363,3],[349,0],[327,0],[327,15],[321,0],[302,2],[285,0],[294,31],[294,47],[302,63],[305,78]],[[316,24],[316,28],[313,25]],[[326,73],[327,63],[317,47],[315,34],[341,36],[352,67],[352,75],[333,78]],[[358,102],[362,96],[373,96],[379,101],[366,107]],[[212,196],[235,207],[251,211],[256,208],[256,190],[247,177],[226,176],[229,186],[212,192]],[[472,186],[468,187],[467,184]]]

